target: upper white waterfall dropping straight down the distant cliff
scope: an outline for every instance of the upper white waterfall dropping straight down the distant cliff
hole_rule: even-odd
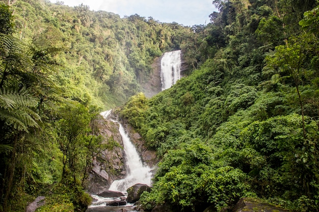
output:
[[[170,88],[180,79],[180,50],[164,53],[161,59],[162,90]]]

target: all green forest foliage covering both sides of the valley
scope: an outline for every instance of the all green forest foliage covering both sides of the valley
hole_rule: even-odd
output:
[[[97,136],[92,105],[130,97],[120,114],[163,159],[146,209],[230,209],[251,195],[318,211],[317,3],[213,4],[212,22],[192,29],[40,0],[16,1],[13,20],[1,4],[3,208],[17,191],[37,195],[61,179],[39,210],[85,208],[79,185],[114,146]],[[138,93],[153,59],[175,49],[190,76],[151,99]]]

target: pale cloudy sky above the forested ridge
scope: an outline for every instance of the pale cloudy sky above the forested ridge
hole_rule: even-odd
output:
[[[50,0],[56,3],[56,0]],[[177,22],[184,26],[209,23],[209,14],[217,9],[212,0],[60,0],[64,5],[88,5],[90,10],[103,10],[125,15],[138,14],[141,17],[153,17],[164,23]]]

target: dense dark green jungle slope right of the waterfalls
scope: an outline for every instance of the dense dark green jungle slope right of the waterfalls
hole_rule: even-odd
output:
[[[252,197],[318,211],[319,2],[213,4],[196,27],[202,64],[121,108],[163,158],[143,207],[221,211]]]

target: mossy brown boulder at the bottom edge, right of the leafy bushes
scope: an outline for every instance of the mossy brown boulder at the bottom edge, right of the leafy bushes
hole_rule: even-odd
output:
[[[290,210],[282,209],[268,203],[262,203],[252,198],[240,199],[232,212],[255,212],[255,211],[276,211],[276,212],[291,212]]]

